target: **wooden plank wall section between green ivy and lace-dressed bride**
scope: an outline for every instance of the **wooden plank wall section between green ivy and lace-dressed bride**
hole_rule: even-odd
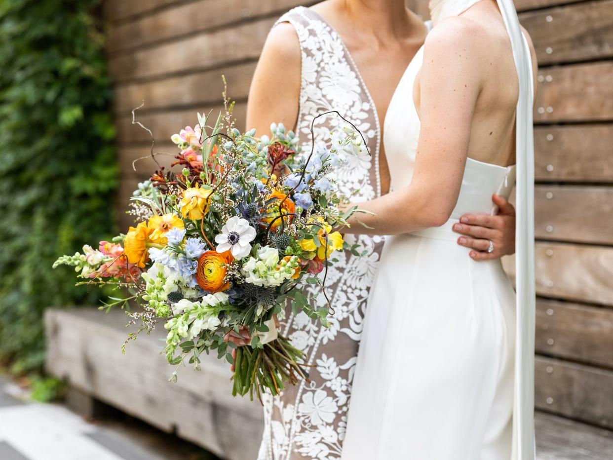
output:
[[[226,75],[235,115],[243,128],[251,76],[268,30],[284,12],[304,0],[105,0],[109,26],[107,55],[115,82],[115,119],[123,214],[136,184],[153,171],[150,137],[132,125],[131,110],[143,101],[137,119],[153,131],[156,151],[172,153],[170,136],[197,123],[196,112],[221,109],[221,75]],[[172,156],[158,157],[169,164]]]

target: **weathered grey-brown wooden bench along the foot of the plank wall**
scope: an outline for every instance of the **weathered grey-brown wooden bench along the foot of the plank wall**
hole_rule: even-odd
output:
[[[231,396],[229,367],[215,356],[203,357],[201,372],[180,369],[178,382],[170,383],[173,368],[159,354],[163,328],[141,335],[122,355],[128,329],[121,311],[48,310],[45,321],[50,374],[221,458],[256,458],[262,408],[257,401]],[[546,413],[537,414],[536,429],[540,460],[613,458],[610,431]]]

